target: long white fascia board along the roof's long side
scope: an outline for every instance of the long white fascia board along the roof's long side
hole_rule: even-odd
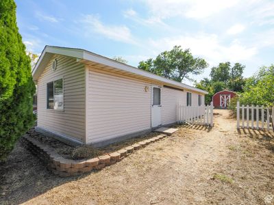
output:
[[[140,74],[144,77],[148,77],[150,79],[155,79],[155,80],[158,80],[158,81],[162,81],[164,83],[169,83],[171,85],[176,85],[176,86],[188,89],[188,90],[193,90],[193,91],[200,92],[200,93],[203,93],[203,94],[208,94],[208,92],[206,92],[205,90],[200,90],[196,87],[192,87],[192,86],[186,85],[184,83],[179,83],[177,81],[166,79],[164,77],[158,76],[157,74],[153,74],[151,72],[147,72],[145,70],[141,70],[139,68],[135,68],[133,66],[129,66],[127,64],[123,64],[123,63],[120,63],[118,61],[108,59],[107,57],[103,57],[101,55],[96,55],[96,54],[93,54],[93,53],[90,53],[90,52],[87,52],[87,51],[84,52],[84,59],[86,59],[88,61],[94,61],[98,64],[103,64],[105,66],[110,66],[110,67],[113,67],[113,68],[119,68],[119,69],[125,70],[127,72],[132,72],[134,74]]]

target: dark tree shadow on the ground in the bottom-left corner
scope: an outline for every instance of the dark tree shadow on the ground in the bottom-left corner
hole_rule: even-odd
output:
[[[18,141],[8,160],[0,164],[0,204],[21,204],[54,187],[87,175],[67,178],[55,176]]]

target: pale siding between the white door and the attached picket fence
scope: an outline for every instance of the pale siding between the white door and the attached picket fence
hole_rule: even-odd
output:
[[[186,92],[162,88],[162,124],[171,124],[177,120],[177,105],[186,105]]]

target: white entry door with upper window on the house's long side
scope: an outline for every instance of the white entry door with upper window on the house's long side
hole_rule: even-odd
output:
[[[151,86],[151,126],[157,127],[162,124],[162,105],[161,105],[162,88],[159,86]]]

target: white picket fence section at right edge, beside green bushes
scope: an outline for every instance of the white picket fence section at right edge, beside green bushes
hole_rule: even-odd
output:
[[[237,128],[251,128],[251,129],[264,129],[270,131],[271,122],[270,118],[274,116],[274,107],[269,111],[266,107],[253,106],[240,106],[237,102]],[[272,113],[272,114],[271,114]],[[241,118],[241,119],[240,119]],[[240,123],[241,121],[241,123]],[[274,120],[272,121],[272,126]]]

